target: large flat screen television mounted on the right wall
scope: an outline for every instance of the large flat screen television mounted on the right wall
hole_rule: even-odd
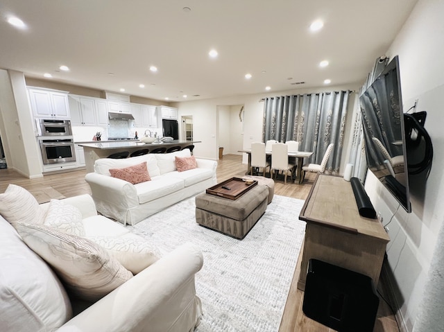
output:
[[[411,212],[398,56],[359,97],[367,166]]]

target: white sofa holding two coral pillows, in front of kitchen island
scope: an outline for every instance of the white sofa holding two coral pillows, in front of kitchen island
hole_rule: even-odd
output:
[[[176,156],[191,157],[191,152],[185,149],[126,159],[97,159],[94,173],[85,176],[97,211],[123,225],[135,225],[148,216],[217,184],[216,161],[196,158],[197,168],[178,172]],[[143,161],[147,162],[151,181],[131,184],[110,175],[110,168],[126,168]]]

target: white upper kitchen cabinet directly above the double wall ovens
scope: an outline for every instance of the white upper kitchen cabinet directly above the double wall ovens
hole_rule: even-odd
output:
[[[68,91],[28,87],[34,116],[48,119],[69,119]]]

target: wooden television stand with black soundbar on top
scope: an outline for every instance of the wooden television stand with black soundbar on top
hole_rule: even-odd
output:
[[[318,175],[299,219],[307,222],[300,290],[305,290],[309,259],[364,274],[377,285],[390,238],[379,220],[359,215],[350,182]]]

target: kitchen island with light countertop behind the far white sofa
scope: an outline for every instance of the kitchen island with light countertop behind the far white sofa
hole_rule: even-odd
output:
[[[141,141],[96,141],[94,143],[77,143],[83,147],[85,154],[85,167],[88,173],[94,172],[94,161],[100,158],[106,158],[116,152],[128,151],[130,154],[140,149],[153,150],[154,148],[171,148],[173,146],[180,146],[185,148],[200,141],[180,141],[174,140],[169,143],[143,143]]]

